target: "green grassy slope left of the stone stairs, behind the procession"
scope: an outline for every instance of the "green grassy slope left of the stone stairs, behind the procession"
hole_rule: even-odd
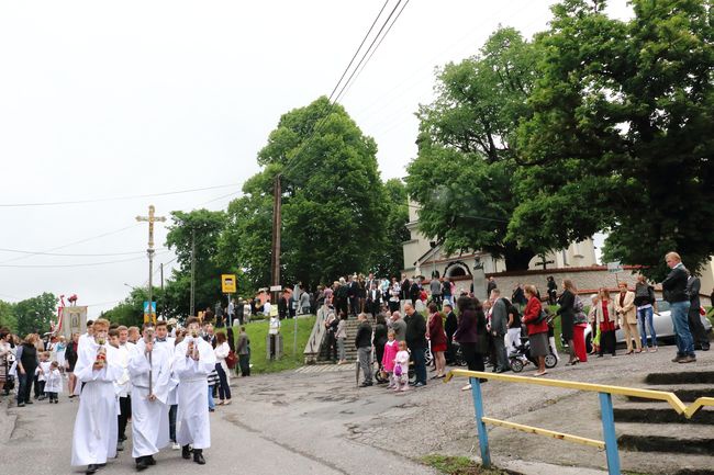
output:
[[[293,335],[294,335],[294,320],[286,319],[281,321],[280,333],[282,335],[282,357],[276,361],[267,359],[266,339],[268,336],[268,321],[258,320],[252,321],[245,326],[245,331],[250,339],[250,369],[252,374],[277,373],[279,371],[293,370],[304,364],[303,351],[312,327],[315,325],[315,316],[311,315],[306,318],[298,318],[298,348],[294,358],[292,357],[293,350]],[[235,330],[235,329],[234,329]],[[235,341],[237,341],[238,331],[234,333]]]

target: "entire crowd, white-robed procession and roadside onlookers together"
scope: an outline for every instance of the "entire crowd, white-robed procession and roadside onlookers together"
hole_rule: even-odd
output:
[[[700,319],[701,284],[678,253],[668,253],[666,262],[670,272],[661,286],[677,340],[672,362],[691,363],[696,361],[695,347],[704,351],[710,348]],[[588,327],[591,354],[596,358],[617,355],[618,328],[624,333],[625,354],[658,350],[652,325],[657,310],[655,289],[643,275],[634,289],[625,282],[620,282],[615,293],[600,289],[590,295],[589,305],[571,280],[564,280],[561,289],[558,294],[555,280],[548,279],[546,299],[557,305],[551,313],[532,284],[518,284],[509,299],[491,278],[488,298],[481,302],[472,287],[457,291],[448,279],[426,282],[403,276],[398,281],[369,274],[342,278],[313,294],[299,290],[297,302],[305,304],[300,312],[315,305],[325,313],[328,354],[336,363],[346,362],[347,344],[355,346],[361,387],[375,385],[377,378],[398,393],[427,384],[427,355],[433,355],[431,380],[445,377],[447,364],[453,364],[457,354],[469,370],[480,372],[487,364],[493,372],[506,372],[514,359],[523,364],[529,360],[537,366],[533,375],[543,376],[547,374],[546,358],[560,358],[554,335],[557,319],[567,343],[569,366],[588,361]],[[279,330],[280,317],[291,315],[288,298],[292,295],[292,291],[286,294],[280,315],[269,312],[270,332]],[[21,340],[2,328],[1,395],[13,394],[19,408],[44,400],[56,405],[66,380],[68,399],[79,399],[71,465],[87,465],[89,474],[124,450],[130,418],[136,470],[156,464],[154,455],[169,444],[181,450],[185,459],[204,464],[203,450],[211,444],[209,412],[231,404],[232,370],[236,375],[250,374],[250,341],[241,324],[253,312],[265,312],[265,307],[244,305],[239,313],[235,313],[236,306],[233,312],[226,308],[225,319],[214,317],[201,323],[189,317],[183,327],[157,321],[141,329],[126,328],[100,318],[88,321],[87,332],[75,333],[69,341],[64,337],[43,339],[37,333]],[[211,309],[203,316],[210,317]],[[350,316],[359,321],[354,343],[347,341],[346,323]],[[236,321],[237,337],[233,331],[216,332],[212,325]],[[527,359],[522,352],[522,339],[526,337]]]

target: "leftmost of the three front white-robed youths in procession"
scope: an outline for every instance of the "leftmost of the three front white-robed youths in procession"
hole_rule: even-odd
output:
[[[108,330],[108,320],[93,323],[92,337],[80,346],[75,365],[83,387],[72,432],[71,465],[87,465],[88,474],[116,455],[119,404],[113,383],[121,377],[122,366],[116,350],[107,341]]]

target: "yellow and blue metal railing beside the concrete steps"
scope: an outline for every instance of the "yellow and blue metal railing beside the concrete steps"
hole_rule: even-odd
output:
[[[473,397],[473,409],[476,412],[476,426],[479,436],[479,446],[481,450],[481,463],[483,466],[491,465],[491,453],[489,450],[489,436],[486,426],[497,426],[505,429],[518,430],[537,436],[546,436],[554,439],[565,440],[568,442],[590,445],[605,451],[607,459],[607,473],[610,475],[621,475],[620,452],[617,449],[617,437],[615,434],[615,418],[613,414],[612,396],[632,396],[644,399],[662,400],[671,406],[672,409],[691,419],[705,406],[714,406],[714,397],[700,397],[691,405],[687,406],[674,393],[665,391],[640,389],[636,387],[609,386],[603,384],[580,383],[577,381],[544,380],[540,377],[513,376],[505,374],[483,373],[479,371],[453,370],[445,382],[453,377],[468,377],[471,383],[471,395]],[[509,422],[505,420],[486,417],[483,414],[483,396],[481,394],[480,380],[503,381],[506,383],[531,384],[535,386],[561,387],[564,389],[585,391],[598,393],[600,398],[600,409],[602,419],[602,430],[604,440],[587,439],[569,433],[557,432],[537,427],[524,426],[521,423]]]

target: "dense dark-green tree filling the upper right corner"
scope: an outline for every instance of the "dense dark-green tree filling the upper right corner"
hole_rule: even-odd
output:
[[[693,270],[714,252],[712,5],[631,3],[627,22],[603,1],[554,7],[509,236],[557,248],[607,229],[611,258],[658,278],[668,250]]]

